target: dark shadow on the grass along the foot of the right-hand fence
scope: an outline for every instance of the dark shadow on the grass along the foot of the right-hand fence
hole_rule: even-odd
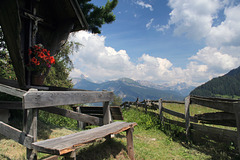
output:
[[[215,141],[203,133],[199,133],[197,136],[195,135],[194,138],[190,136],[190,139],[187,139],[184,131],[185,128],[173,124],[165,123],[161,127],[161,130],[166,135],[170,136],[173,141],[178,142],[183,147],[198,150],[201,153],[211,156],[211,159],[240,159],[237,147],[232,143],[221,142],[221,140]]]

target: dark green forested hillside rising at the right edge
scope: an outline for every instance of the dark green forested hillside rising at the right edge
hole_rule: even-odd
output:
[[[240,96],[240,67],[231,70],[224,76],[213,78],[194,89],[190,94],[211,97],[219,95]]]

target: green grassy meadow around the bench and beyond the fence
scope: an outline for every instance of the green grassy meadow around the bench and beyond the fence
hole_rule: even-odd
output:
[[[164,107],[184,113],[184,105],[163,104]],[[191,106],[191,115],[205,112],[214,112],[216,110]],[[158,112],[154,111],[154,112]],[[209,159],[240,159],[235,148],[225,144],[216,143],[211,140],[204,144],[193,144],[186,141],[184,128],[164,124],[161,125],[157,116],[151,113],[145,114],[143,109],[137,110],[132,107],[123,110],[125,121],[137,122],[138,126],[134,128],[134,151],[137,160],[209,160]],[[175,119],[170,115],[164,115]],[[53,116],[46,113],[40,113],[38,124],[39,140],[59,137],[80,131],[76,127],[76,121],[60,116]],[[47,120],[46,120],[47,119]],[[177,119],[175,119],[177,120]],[[19,121],[12,120],[11,125],[21,128]],[[66,125],[66,127],[63,127]],[[74,129],[70,129],[74,128]],[[0,159],[1,160],[23,160],[25,159],[25,148],[20,144],[0,135]],[[43,159],[49,155],[38,153],[38,158]],[[59,159],[62,159],[60,157]],[[110,141],[99,139],[98,141],[85,145],[78,150],[78,159],[83,160],[107,160],[122,159],[127,160],[125,132],[115,135]]]

